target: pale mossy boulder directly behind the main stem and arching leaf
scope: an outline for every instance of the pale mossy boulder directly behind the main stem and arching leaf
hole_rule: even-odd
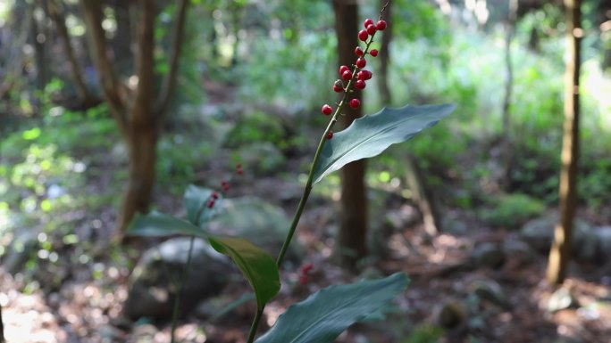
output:
[[[222,209],[209,225],[214,234],[245,238],[272,257],[278,256],[290,227],[282,208],[260,198],[244,197],[223,200]],[[295,261],[298,256],[300,249],[293,239],[287,257]]]

